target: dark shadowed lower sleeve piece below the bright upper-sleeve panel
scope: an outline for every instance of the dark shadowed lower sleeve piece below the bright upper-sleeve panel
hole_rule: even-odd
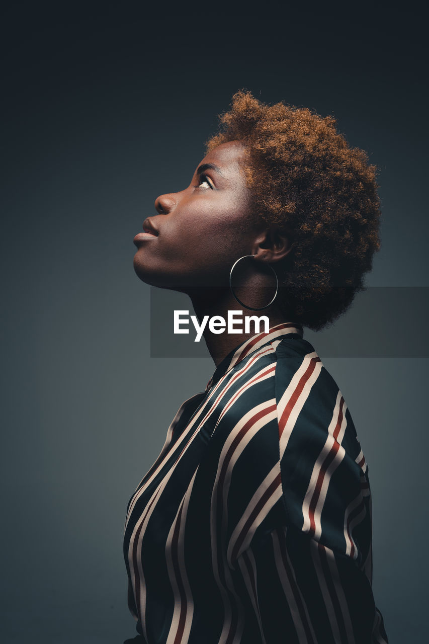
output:
[[[264,644],[384,644],[370,583],[348,556],[292,527],[267,533],[237,560],[247,611]]]

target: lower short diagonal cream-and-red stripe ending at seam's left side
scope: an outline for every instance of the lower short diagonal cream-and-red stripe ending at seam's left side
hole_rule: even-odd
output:
[[[233,531],[233,534],[231,535],[231,539],[229,540],[228,549],[227,549],[227,561],[231,567],[233,567],[235,564],[235,562],[233,562],[232,560],[233,550],[238,537],[242,533],[243,527],[245,526],[245,522],[253,512],[254,508],[256,507],[260,499],[263,497],[265,491],[269,488],[269,486],[271,486],[272,482],[276,477],[278,477],[279,474],[280,474],[280,462],[276,462],[276,464],[274,465],[274,468],[271,469],[271,472],[267,474],[267,476],[260,484],[259,488],[254,493],[253,497],[251,498],[251,501],[249,502],[249,505],[246,507],[243,513],[242,518],[240,518],[240,521],[234,528],[234,531]],[[243,543],[240,546],[238,553],[236,554],[237,558],[240,556],[240,554],[242,554],[243,551],[247,550],[247,548],[251,543],[251,540],[253,539],[253,535],[256,532],[256,528],[260,526],[260,524],[262,524],[263,519],[265,518],[265,516],[267,516],[272,506],[274,506],[274,504],[276,504],[276,502],[281,498],[281,494],[282,494],[281,483],[279,483],[276,489],[272,491],[271,496],[267,498],[265,504],[260,509],[258,515],[256,515],[256,517],[254,518],[254,521],[249,527],[249,530],[247,531],[247,534],[243,540]]]

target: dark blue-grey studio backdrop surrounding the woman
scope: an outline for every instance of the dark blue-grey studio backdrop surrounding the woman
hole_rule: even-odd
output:
[[[150,357],[150,289],[132,240],[158,194],[189,184],[234,91],[335,115],[380,171],[383,245],[367,285],[429,286],[423,17],[377,4],[254,7],[3,9],[5,643],[134,634],[126,505],[214,364]],[[417,317],[399,304],[389,319],[398,355],[401,337],[426,341]],[[385,330],[369,312],[361,332]],[[374,594],[390,644],[423,642],[428,360],[321,359],[369,463]]]

